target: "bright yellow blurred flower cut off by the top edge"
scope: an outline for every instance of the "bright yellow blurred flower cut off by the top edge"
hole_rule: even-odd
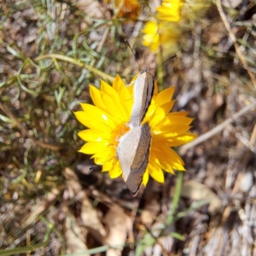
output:
[[[160,20],[177,22],[181,19],[180,12],[183,7],[181,0],[165,0],[157,8],[158,18]]]

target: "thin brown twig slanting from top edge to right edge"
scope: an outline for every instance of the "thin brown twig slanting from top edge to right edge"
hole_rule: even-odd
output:
[[[239,45],[236,43],[236,36],[235,36],[234,32],[232,32],[230,23],[229,23],[226,15],[224,14],[224,10],[222,9],[222,5],[221,5],[221,0],[217,0],[216,4],[217,4],[217,8],[218,8],[218,13],[219,13],[221,19],[223,20],[224,26],[226,27],[226,30],[229,33],[230,39],[234,43],[234,46],[236,49],[236,54],[238,55],[242,65],[243,65],[243,68],[247,70],[247,73],[248,73],[250,79],[252,80],[254,89],[256,90],[256,79],[254,77],[254,74],[250,71],[250,69],[247,65],[247,61],[245,60],[244,56],[241,53],[241,49],[239,48]]]

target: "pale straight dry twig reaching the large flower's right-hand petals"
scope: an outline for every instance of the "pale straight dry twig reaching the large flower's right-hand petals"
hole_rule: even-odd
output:
[[[255,107],[256,107],[256,102],[252,103],[251,105],[249,105],[247,107],[242,108],[238,113],[235,113],[231,118],[226,119],[222,124],[214,127],[211,131],[207,131],[207,133],[201,135],[201,137],[197,137],[192,143],[188,143],[188,144],[185,144],[182,147],[180,147],[179,154],[181,154],[181,155],[186,154],[186,152],[189,148],[193,148],[196,145],[207,141],[207,139],[218,134],[218,132],[223,131],[227,125],[230,125],[230,123],[232,123],[234,120],[240,118],[241,115],[247,113],[249,110],[251,110]]]

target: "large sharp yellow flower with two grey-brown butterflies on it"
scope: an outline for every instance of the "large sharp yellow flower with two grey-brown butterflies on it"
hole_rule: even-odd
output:
[[[101,90],[90,85],[90,96],[95,106],[81,103],[83,111],[75,112],[76,118],[89,129],[79,131],[79,137],[85,142],[79,152],[92,154],[96,164],[102,165],[102,172],[109,172],[111,178],[122,174],[117,148],[119,138],[130,128],[126,125],[131,118],[133,104],[133,85],[126,87],[117,76],[113,86],[102,81]],[[143,184],[148,183],[148,175],[163,183],[164,174],[173,169],[185,171],[183,160],[171,148],[189,143],[196,136],[189,132],[193,119],[187,113],[170,113],[174,101],[171,101],[174,88],[158,93],[154,86],[154,96],[143,123],[148,122],[152,133],[148,167],[143,176]]]

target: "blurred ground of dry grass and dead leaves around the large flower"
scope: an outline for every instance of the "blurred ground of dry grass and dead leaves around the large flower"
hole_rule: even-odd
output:
[[[180,149],[188,172],[170,215],[177,177],[131,198],[121,178],[89,172],[77,152],[84,128],[73,111],[90,102],[88,84],[138,72],[124,38],[142,67],[155,67],[143,23],[97,1],[2,1],[0,255],[256,255],[256,6],[222,13],[217,3],[162,67],[176,110],[207,133]]]

